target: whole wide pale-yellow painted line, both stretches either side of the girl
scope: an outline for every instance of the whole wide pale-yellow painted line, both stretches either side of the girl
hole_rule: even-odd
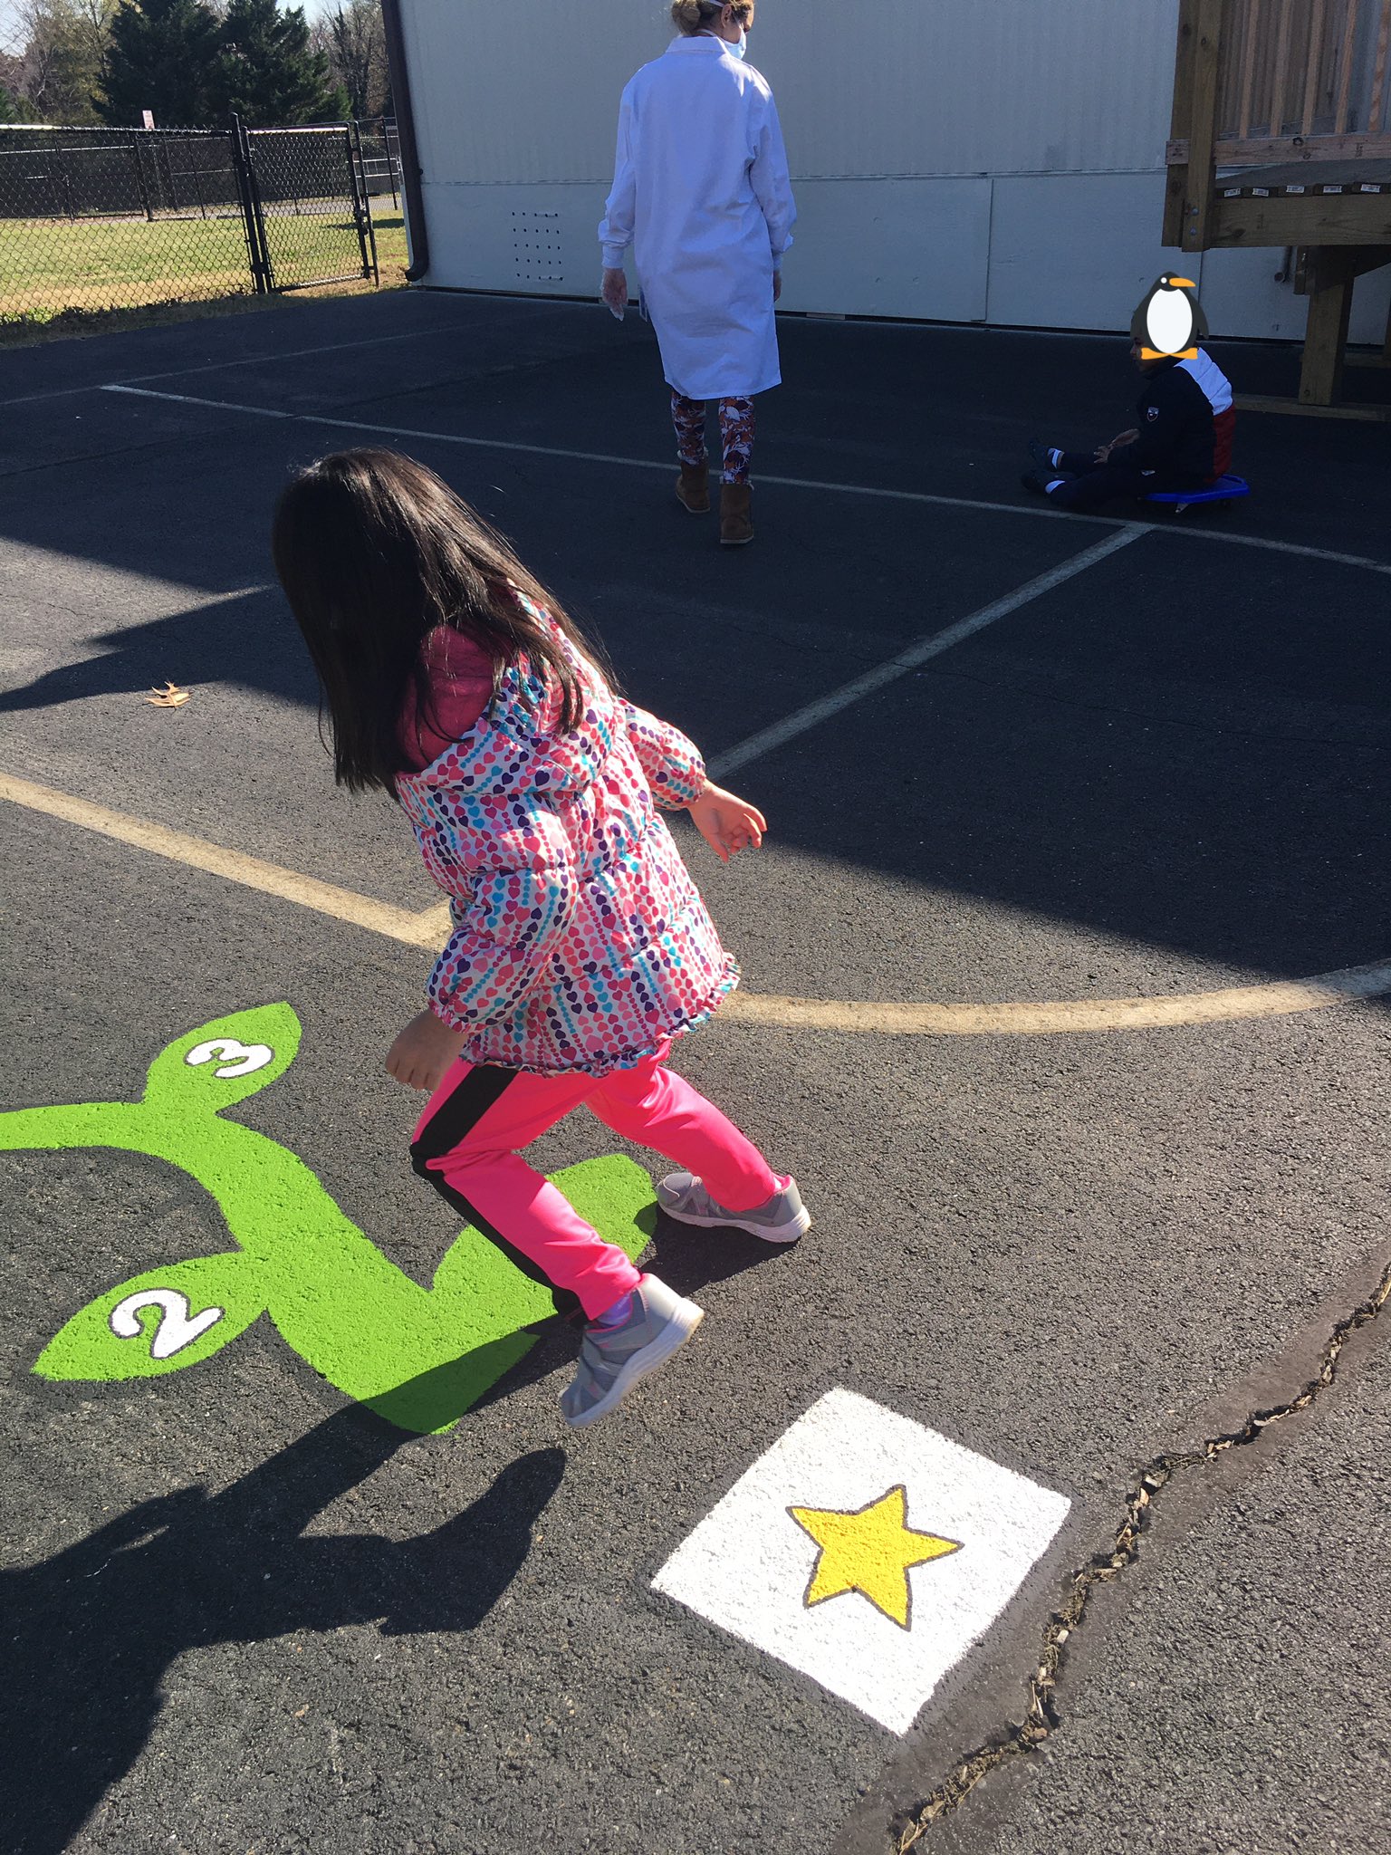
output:
[[[95,805],[91,800],[56,792],[32,779],[0,774],[0,800],[45,812],[87,831],[100,831],[121,844],[134,844],[156,857],[169,857],[193,870],[206,870],[243,889],[260,889],[282,902],[313,909],[334,920],[406,946],[438,948],[449,933],[449,903],[423,913],[373,902],[352,889],[319,883],[312,876],[282,870],[276,863],[245,857],[239,850],[171,831],[148,818]],[[938,1005],[875,1004],[872,1000],[779,998],[773,992],[731,992],[721,1018],[736,1024],[773,1024],[781,1030],[857,1031],[890,1037],[1039,1037],[1050,1031],[1126,1031],[1180,1024],[1224,1024],[1241,1018],[1278,1018],[1298,1011],[1322,1011],[1391,992],[1391,959],[1367,966],[1321,972],[1313,979],[1272,985],[1235,985],[1219,992],[1174,992],[1167,998],[1076,998],[1055,1004]]]

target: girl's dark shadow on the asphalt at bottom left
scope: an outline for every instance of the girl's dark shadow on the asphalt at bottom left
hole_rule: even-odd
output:
[[[560,1486],[560,1449],[510,1464],[415,1540],[302,1538],[406,1441],[351,1408],[219,1495],[145,1501],[41,1566],[0,1573],[0,1846],[57,1855],[139,1757],[187,1649],[380,1621],[471,1631],[516,1579]]]

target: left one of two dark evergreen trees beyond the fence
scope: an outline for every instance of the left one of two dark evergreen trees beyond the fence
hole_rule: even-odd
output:
[[[106,122],[160,128],[221,122],[217,15],[204,0],[122,0],[111,22],[96,108]]]

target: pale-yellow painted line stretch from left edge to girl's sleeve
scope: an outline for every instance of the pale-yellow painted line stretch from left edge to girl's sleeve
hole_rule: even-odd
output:
[[[32,779],[15,779],[11,774],[0,774],[0,798],[9,800],[13,805],[24,805],[28,811],[45,812],[48,818],[61,818],[65,824],[100,831],[102,837],[113,837],[121,844],[134,844],[137,850],[154,851],[156,857],[169,857],[172,863],[185,863],[193,870],[206,870],[210,876],[221,876],[228,883],[241,883],[243,889],[260,889],[267,896],[280,896],[282,902],[297,902],[300,907],[315,909],[319,915],[332,915],[334,920],[352,922],[354,928],[389,935],[393,940],[404,940],[410,946],[440,946],[441,940],[438,909],[428,909],[425,915],[393,909],[388,902],[373,902],[371,896],[358,896],[351,889],[319,883],[312,876],[282,870],[276,863],[262,863],[260,857],[243,857],[239,850],[226,850],[223,844],[210,844],[202,837],[171,831],[167,825],[154,824],[148,818],[130,818],[126,812],[111,811],[106,805],[93,805],[91,800],[76,800],[69,792],[39,787]]]

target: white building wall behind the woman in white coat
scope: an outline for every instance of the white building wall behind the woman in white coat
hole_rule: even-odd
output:
[[[402,0],[430,282],[590,295],[623,83],[662,0]],[[1178,0],[760,0],[749,58],[798,191],[783,306],[1046,328],[1129,325],[1159,243]],[[1213,334],[1296,339],[1282,252],[1206,252]],[[1391,271],[1358,284],[1380,341]]]

